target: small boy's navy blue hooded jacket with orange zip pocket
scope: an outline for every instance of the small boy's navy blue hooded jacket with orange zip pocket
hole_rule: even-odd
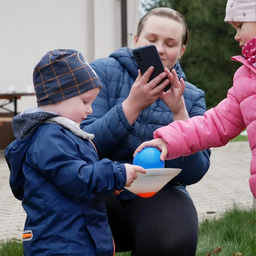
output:
[[[42,123],[49,117],[40,111],[15,117],[20,139],[5,150],[11,190],[27,213],[24,256],[113,256],[104,194],[124,187],[125,167],[98,161],[90,140]]]

